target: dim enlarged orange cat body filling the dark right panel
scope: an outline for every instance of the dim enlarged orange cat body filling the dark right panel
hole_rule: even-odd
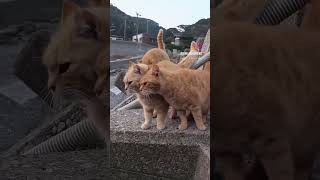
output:
[[[245,23],[212,29],[213,140],[225,179],[245,179],[239,159],[252,153],[270,180],[307,180],[320,150],[320,33]]]

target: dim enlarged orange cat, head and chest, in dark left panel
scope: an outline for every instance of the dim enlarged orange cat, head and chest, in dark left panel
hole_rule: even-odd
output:
[[[61,24],[44,52],[48,88],[55,97],[80,100],[87,115],[99,128],[108,131],[106,109],[108,19],[106,0],[89,0],[81,8],[64,1]]]

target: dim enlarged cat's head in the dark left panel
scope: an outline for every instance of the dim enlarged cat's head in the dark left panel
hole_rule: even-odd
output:
[[[64,1],[60,27],[44,51],[42,63],[48,70],[48,89],[56,95],[69,97],[70,90],[94,94],[99,76],[95,66],[108,44],[107,8],[103,7],[105,0],[89,2],[94,7],[81,8]]]

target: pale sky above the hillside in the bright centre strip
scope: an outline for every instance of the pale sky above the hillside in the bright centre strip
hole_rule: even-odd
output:
[[[210,0],[110,0],[130,16],[151,19],[168,29],[210,17]]]

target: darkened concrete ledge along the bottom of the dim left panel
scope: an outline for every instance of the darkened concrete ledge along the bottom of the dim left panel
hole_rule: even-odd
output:
[[[105,149],[2,158],[1,178],[6,179],[108,179]]]

